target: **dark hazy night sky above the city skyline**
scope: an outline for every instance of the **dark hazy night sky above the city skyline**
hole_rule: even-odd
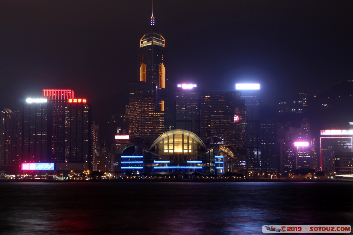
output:
[[[25,98],[57,88],[120,111],[136,78],[151,5],[0,1],[0,109],[19,109]],[[155,0],[154,16],[169,50],[171,85],[231,91],[236,82],[260,82],[263,102],[274,105],[352,79],[352,6],[351,0]]]

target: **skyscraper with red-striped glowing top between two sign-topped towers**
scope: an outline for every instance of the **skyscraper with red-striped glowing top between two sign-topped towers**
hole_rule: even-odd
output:
[[[52,156],[50,162],[65,162],[65,103],[74,98],[70,89],[43,89],[52,108]]]

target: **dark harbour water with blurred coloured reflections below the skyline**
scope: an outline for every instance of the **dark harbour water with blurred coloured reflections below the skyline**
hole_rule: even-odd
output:
[[[0,234],[263,234],[352,225],[352,199],[353,183],[0,183]]]

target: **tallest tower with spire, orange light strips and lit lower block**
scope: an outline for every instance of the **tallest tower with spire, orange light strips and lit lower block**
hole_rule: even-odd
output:
[[[168,109],[168,54],[166,40],[156,29],[152,16],[150,29],[137,50],[137,78],[130,84],[130,136],[158,137],[170,129]]]

